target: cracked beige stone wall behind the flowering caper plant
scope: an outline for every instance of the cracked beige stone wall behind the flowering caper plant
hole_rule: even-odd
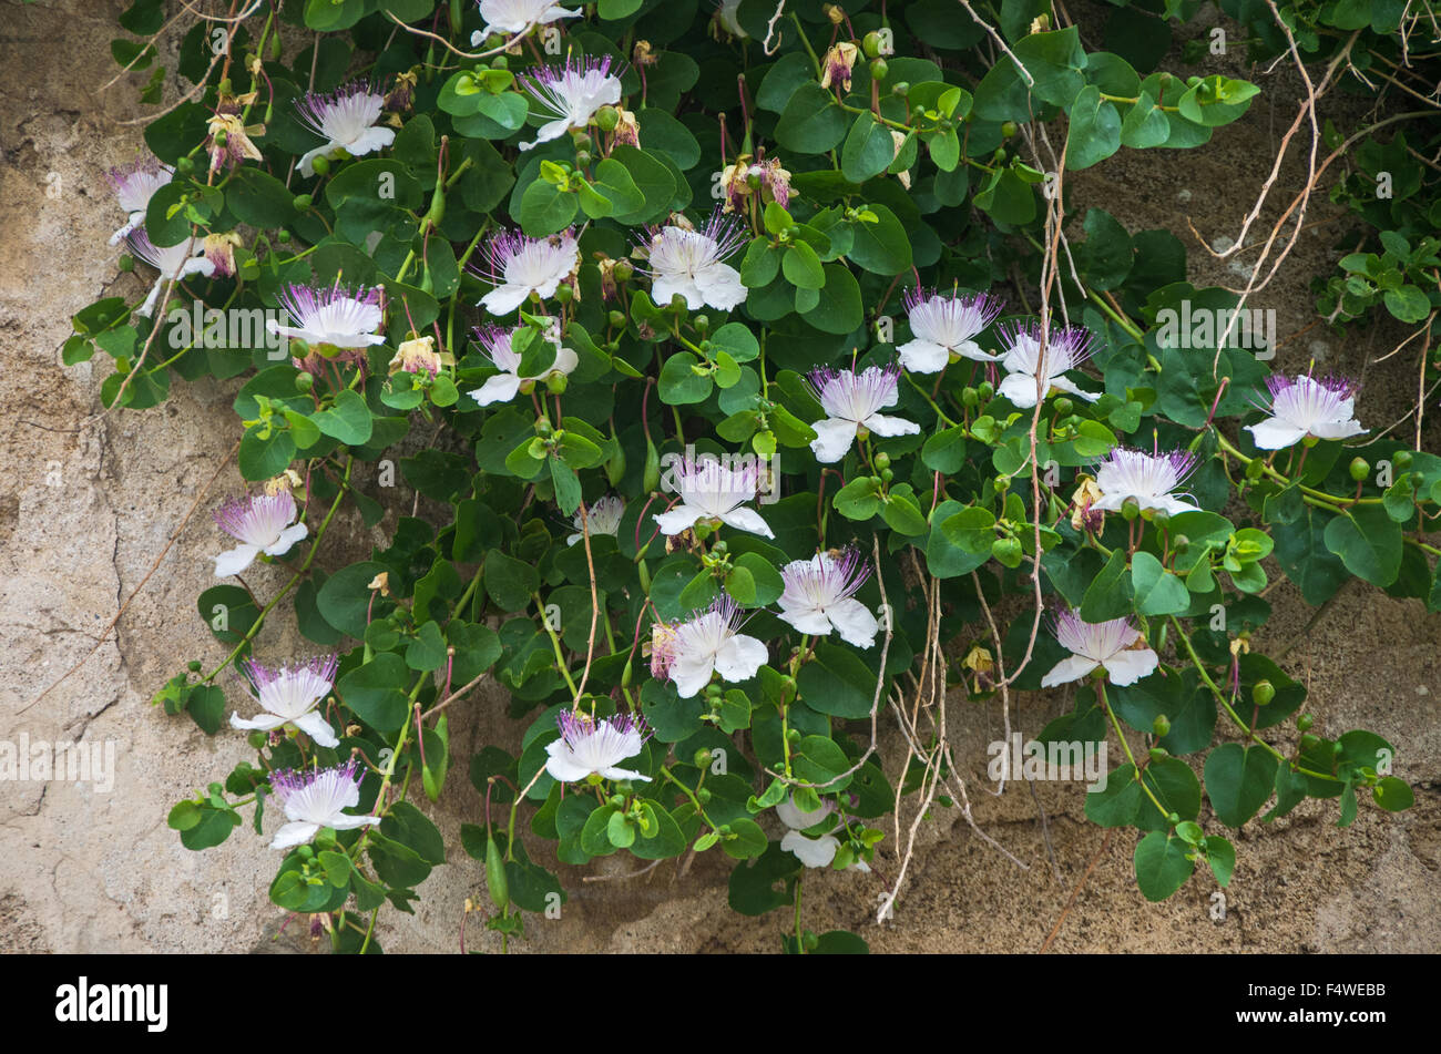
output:
[[[121,217],[102,171],[134,157],[140,115],[134,86],[99,94],[114,69],[108,42],[115,0],[48,0],[4,6],[10,37],[0,40],[0,334],[10,369],[0,376],[0,742],[112,743],[114,788],[63,780],[0,783],[0,950],[58,952],[310,952],[307,920],[287,923],[267,888],[277,855],[248,826],[222,847],[195,854],[164,818],[196,788],[223,779],[248,756],[244,740],[210,739],[189,719],[167,719],[151,694],[190,658],[208,667],[223,658],[196,615],[196,596],[213,585],[210,556],[222,540],[208,513],[238,491],[233,465],[222,472],[174,547],[130,602],[114,632],[107,628],[164,550],[192,503],[215,475],[236,436],[229,403],[238,382],[176,383],[171,399],[143,413],[104,413],[104,356],[63,369],[59,346],[68,318],[107,291],[143,295],[143,281],[120,275],[110,232]],[[1085,17],[1089,9],[1079,9]],[[161,45],[164,52],[167,45]],[[173,42],[169,45],[173,53]],[[1239,59],[1231,75],[1244,76]],[[1169,68],[1193,71],[1176,53]],[[43,72],[42,72],[43,71]],[[144,76],[138,78],[140,81]],[[1107,207],[1131,230],[1185,230],[1190,215],[1203,233],[1233,235],[1265,177],[1281,128],[1294,112],[1294,78],[1284,69],[1264,84],[1265,101],[1202,151],[1123,151],[1069,177],[1078,204]],[[1274,107],[1274,109],[1272,109]],[[1282,190],[1298,171],[1288,166]],[[50,190],[52,196],[46,194]],[[1180,192],[1186,192],[1185,196]],[[1324,196],[1321,196],[1324,197]],[[1280,212],[1272,202],[1267,223]],[[1317,206],[1319,209],[1321,206]],[[1320,215],[1320,213],[1319,213]],[[1278,331],[1311,321],[1307,281],[1331,266],[1324,228],[1307,233],[1261,307],[1278,311]],[[1231,284],[1225,261],[1193,242],[1192,279]],[[1249,258],[1248,258],[1249,259]],[[1333,340],[1339,369],[1365,371],[1404,334],[1386,327]],[[1304,344],[1303,341],[1298,341]],[[1287,356],[1294,351],[1294,361]],[[1298,347],[1281,363],[1304,367]],[[1409,406],[1414,364],[1396,357],[1370,369],[1357,409],[1391,422]],[[1441,418],[1434,415],[1432,420]],[[1441,436],[1428,429],[1428,445]],[[386,526],[409,514],[396,494]],[[363,557],[383,536],[343,517],[327,539],[323,563]],[[1278,573],[1272,570],[1272,577]],[[246,580],[278,587],[275,567]],[[1441,681],[1438,619],[1417,600],[1392,600],[1349,587],[1314,632],[1311,612],[1290,583],[1275,587],[1261,649],[1301,642],[1285,668],[1307,681],[1307,708],[1337,733],[1369,727],[1399,750],[1398,767],[1417,786],[1417,806],[1401,816],[1362,805],[1346,829],[1334,805],[1307,802],[1262,828],[1252,821],[1233,838],[1239,864],[1226,891],[1226,916],[1212,917],[1215,887],[1196,877],[1164,904],[1136,890],[1131,835],[1114,837],[1056,937],[1058,950],[1197,952],[1419,952],[1441,946]],[[284,608],[281,613],[284,613]],[[284,618],[272,618],[259,654],[304,648]],[[98,644],[98,647],[97,647]],[[79,665],[78,665],[79,664]],[[35,700],[76,667],[43,701]],[[222,684],[225,684],[222,678]],[[238,701],[233,687],[232,701]],[[1035,734],[1068,700],[1052,693],[1016,703],[1014,727]],[[483,898],[483,874],[460,848],[461,822],[477,822],[480,796],[465,780],[470,753],[484,743],[514,747],[520,726],[503,716],[500,693],[477,691],[452,707],[455,765],[431,808],[450,860],[422,886],[416,916],[382,913],[378,934],[388,950],[450,952],[458,946],[464,901]],[[889,726],[886,726],[889,727]],[[844,926],[875,950],[1030,950],[1061,917],[1072,886],[1102,845],[1104,832],[1082,815],[1075,783],[1012,786],[994,798],[986,779],[986,744],[1000,737],[997,707],[953,703],[957,757],[968,759],[967,786],[977,824],[1027,870],[976,838],[954,809],[922,824],[906,888],[895,917],[875,923],[875,875],[814,874],[806,884],[806,919],[817,932]],[[1281,742],[1294,733],[1281,731]],[[896,743],[882,740],[888,772],[899,769]],[[1038,808],[1045,809],[1043,828]],[[906,814],[909,819],[909,812]],[[267,816],[267,834],[275,826]],[[898,870],[891,821],[878,870]],[[1059,878],[1048,852],[1053,852]],[[535,854],[546,858],[542,844]],[[702,855],[684,877],[664,862],[631,874],[634,861],[608,858],[588,868],[562,867],[571,900],[562,919],[532,919],[525,950],[775,950],[780,914],[744,919],[725,903],[728,860]],[[471,917],[467,946],[499,942]]]

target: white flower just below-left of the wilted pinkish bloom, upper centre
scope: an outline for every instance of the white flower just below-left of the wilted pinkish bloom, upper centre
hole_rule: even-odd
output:
[[[650,298],[659,307],[670,304],[679,292],[692,311],[712,307],[729,311],[745,302],[741,272],[725,258],[746,240],[738,216],[726,216],[716,209],[700,230],[670,223],[653,230],[650,240],[640,246],[650,275]]]

